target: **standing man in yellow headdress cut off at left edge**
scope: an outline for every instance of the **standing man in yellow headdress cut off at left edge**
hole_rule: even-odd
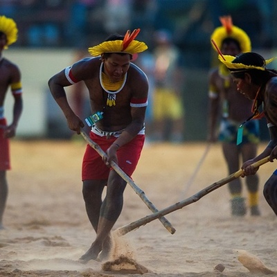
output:
[[[3,229],[3,213],[8,197],[6,171],[10,170],[9,139],[15,136],[22,112],[21,73],[16,64],[3,57],[3,49],[17,41],[17,25],[15,21],[0,16],[0,229]],[[12,123],[8,125],[4,116],[4,100],[8,89],[14,98]]]

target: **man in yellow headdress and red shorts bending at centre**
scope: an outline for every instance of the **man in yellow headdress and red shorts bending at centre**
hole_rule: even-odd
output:
[[[102,158],[89,145],[82,163],[82,193],[96,240],[80,258],[83,262],[107,258],[110,231],[123,208],[126,182],[111,168],[114,161],[132,176],[145,140],[144,118],[148,105],[148,78],[133,64],[132,55],[148,46],[135,40],[140,29],[125,36],[111,35],[105,42],[89,48],[91,58],[75,62],[55,74],[48,82],[53,98],[62,109],[69,128],[77,134],[84,123],[66,100],[64,87],[84,82],[89,90],[92,115],[90,137],[107,157]],[[105,199],[103,189],[107,186]]]

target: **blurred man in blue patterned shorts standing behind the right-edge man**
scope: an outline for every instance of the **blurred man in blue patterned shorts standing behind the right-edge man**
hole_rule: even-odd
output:
[[[251,51],[251,42],[244,30],[233,26],[231,17],[220,17],[222,26],[216,28],[211,35],[213,48],[216,46],[226,55],[238,55]],[[222,142],[224,159],[229,174],[239,170],[240,162],[256,156],[258,148],[258,120],[251,120],[244,125],[242,141],[238,144],[237,132],[241,123],[251,116],[253,101],[244,98],[237,92],[231,74],[224,64],[212,69],[209,74],[209,114],[208,141]],[[217,121],[220,119],[219,134]],[[249,208],[251,215],[260,215],[258,207],[258,176],[246,178]],[[247,206],[242,197],[242,181],[235,179],[229,183],[231,193],[231,213],[243,216]]]

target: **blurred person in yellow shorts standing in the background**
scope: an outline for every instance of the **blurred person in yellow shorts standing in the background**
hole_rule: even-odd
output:
[[[184,72],[181,54],[168,30],[154,34],[154,91],[152,99],[154,141],[181,143],[184,140]]]

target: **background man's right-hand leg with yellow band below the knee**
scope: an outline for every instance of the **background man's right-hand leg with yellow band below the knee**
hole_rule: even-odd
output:
[[[248,161],[249,159],[253,159],[257,154],[257,144],[255,143],[246,143],[242,146],[242,161]],[[249,207],[250,213],[253,216],[260,215],[260,210],[258,207],[259,202],[259,177],[258,174],[249,175],[245,177],[245,181],[247,184],[247,189],[249,193]]]

